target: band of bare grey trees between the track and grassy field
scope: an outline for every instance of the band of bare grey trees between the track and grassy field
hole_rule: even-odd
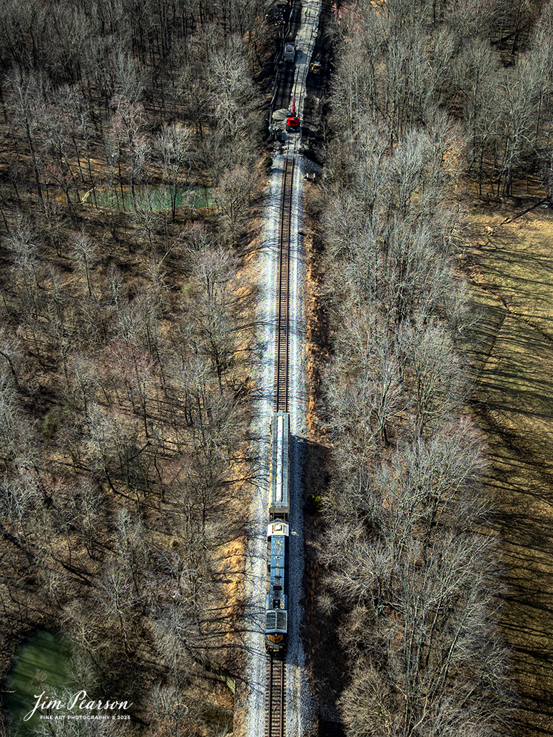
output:
[[[467,198],[549,195],[552,23],[543,2],[361,1],[331,32],[318,607],[349,737],[511,733],[456,254]]]

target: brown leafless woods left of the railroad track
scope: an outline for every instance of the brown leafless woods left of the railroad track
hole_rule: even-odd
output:
[[[134,733],[232,724],[212,692],[240,674],[237,270],[262,178],[265,6],[0,3],[3,673],[21,635],[58,628],[72,682],[133,702]],[[178,207],[191,183],[211,206]],[[151,185],[170,209],[139,198]],[[133,206],[83,204],[94,187]]]

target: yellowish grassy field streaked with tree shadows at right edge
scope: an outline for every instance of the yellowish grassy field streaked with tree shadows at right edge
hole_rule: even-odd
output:
[[[530,204],[474,207],[462,259],[480,314],[472,410],[487,433],[485,483],[501,536],[513,731],[543,737],[553,735],[553,212],[513,219]]]

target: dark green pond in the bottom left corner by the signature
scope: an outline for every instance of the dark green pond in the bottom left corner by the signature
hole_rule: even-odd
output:
[[[55,632],[35,632],[18,646],[15,663],[7,674],[3,699],[15,724],[21,724],[24,732],[38,727],[38,711],[27,722],[23,717],[32,711],[37,699],[45,691],[45,697],[61,694],[68,685],[66,672],[69,650]],[[14,730],[15,731],[15,730]]]

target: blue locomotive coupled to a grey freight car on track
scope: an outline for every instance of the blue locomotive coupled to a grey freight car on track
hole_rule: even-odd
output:
[[[289,447],[290,414],[275,412],[271,422],[271,487],[265,600],[265,649],[271,654],[285,652],[288,647]]]

